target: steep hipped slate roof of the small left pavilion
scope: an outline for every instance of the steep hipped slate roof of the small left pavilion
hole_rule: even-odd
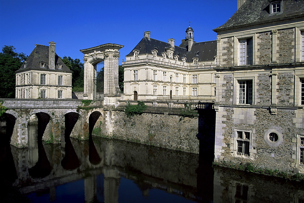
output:
[[[40,67],[40,62],[44,61],[45,67]],[[37,71],[51,71],[51,72],[64,72],[64,73],[73,73],[64,62],[58,57],[55,53],[55,69],[49,69],[49,46],[44,46],[37,44],[29,57],[25,60],[27,63],[24,67],[24,63],[16,71],[16,73],[21,71],[37,70]],[[57,69],[56,64],[61,63],[62,68]]]

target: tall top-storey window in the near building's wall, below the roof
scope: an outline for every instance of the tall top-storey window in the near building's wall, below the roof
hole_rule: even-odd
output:
[[[239,40],[239,65],[252,65],[253,61],[253,42],[252,38]]]

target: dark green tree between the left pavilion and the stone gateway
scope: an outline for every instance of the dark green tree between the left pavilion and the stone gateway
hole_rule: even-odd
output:
[[[62,58],[64,64],[73,71],[72,73],[72,91],[83,91],[84,81],[84,65],[79,59],[72,59],[64,56]]]

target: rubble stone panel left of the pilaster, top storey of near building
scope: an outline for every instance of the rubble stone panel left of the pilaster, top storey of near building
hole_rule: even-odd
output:
[[[257,35],[257,55],[258,64],[271,64],[271,34],[270,32],[258,33]]]

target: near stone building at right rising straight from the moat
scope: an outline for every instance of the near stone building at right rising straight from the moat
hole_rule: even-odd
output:
[[[304,64],[297,59],[304,15],[295,9],[303,10],[304,4],[281,1],[283,9],[272,15],[267,13],[271,6],[270,1],[244,1],[214,29],[220,39],[215,161],[304,173]]]

